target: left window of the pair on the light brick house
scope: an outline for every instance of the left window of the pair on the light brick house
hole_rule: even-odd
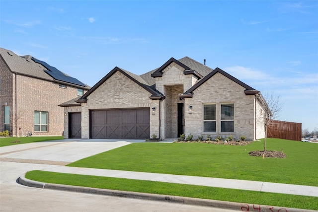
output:
[[[215,133],[216,132],[216,104],[203,105],[203,132]]]

